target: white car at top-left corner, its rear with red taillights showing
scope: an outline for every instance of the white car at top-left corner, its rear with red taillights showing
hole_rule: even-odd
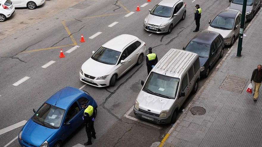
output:
[[[0,0],[0,21],[5,21],[15,12],[15,7],[10,0]]]

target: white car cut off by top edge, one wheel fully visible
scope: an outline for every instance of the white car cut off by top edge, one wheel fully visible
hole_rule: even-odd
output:
[[[42,5],[45,0],[12,0],[15,7],[27,7],[28,9],[35,9]]]

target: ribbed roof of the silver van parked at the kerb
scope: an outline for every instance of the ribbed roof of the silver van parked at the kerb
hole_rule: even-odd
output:
[[[198,55],[185,50],[171,48],[152,69],[153,72],[180,78],[193,65]]]

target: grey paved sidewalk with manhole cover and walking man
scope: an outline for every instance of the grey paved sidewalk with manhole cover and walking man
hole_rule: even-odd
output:
[[[262,146],[262,92],[256,102],[246,92],[253,69],[262,64],[262,13],[245,31],[242,56],[236,56],[235,42],[163,146]],[[193,115],[190,110],[195,106],[206,113]]]

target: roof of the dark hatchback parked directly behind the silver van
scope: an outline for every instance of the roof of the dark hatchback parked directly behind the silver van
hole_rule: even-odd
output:
[[[219,33],[214,31],[201,31],[191,41],[211,45],[212,42],[219,36]]]

